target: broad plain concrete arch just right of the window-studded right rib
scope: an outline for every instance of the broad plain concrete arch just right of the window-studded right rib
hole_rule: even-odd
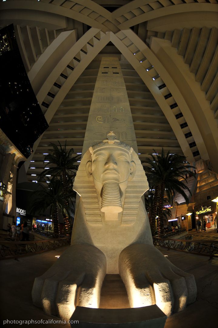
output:
[[[177,54],[176,49],[171,47],[169,41],[152,38],[151,50],[168,72],[165,74],[161,67],[159,68],[162,79],[185,117],[201,158],[210,159],[214,169],[217,170],[218,120],[214,119],[205,92],[201,91],[195,75],[190,73],[189,66],[184,63],[183,57]],[[161,56],[159,56],[160,51]]]

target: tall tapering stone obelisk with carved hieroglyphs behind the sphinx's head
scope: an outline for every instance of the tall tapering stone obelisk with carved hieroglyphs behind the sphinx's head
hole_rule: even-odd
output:
[[[132,114],[119,59],[103,57],[95,84],[84,138],[84,154],[113,131],[138,154]]]

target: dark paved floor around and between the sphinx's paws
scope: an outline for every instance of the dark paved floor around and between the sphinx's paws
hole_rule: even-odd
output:
[[[58,259],[56,255],[69,246],[56,251],[1,261],[1,321],[3,320],[48,320],[58,318],[46,315],[32,304],[31,290],[34,278],[43,274]],[[218,318],[218,258],[208,260],[206,256],[185,254],[159,248],[168,259],[182,270],[192,273],[197,284],[197,300],[166,321],[165,328],[215,328]],[[119,276],[118,276],[119,277]],[[115,280],[117,278],[115,277]],[[113,307],[126,302],[126,292],[119,278],[106,277],[102,287],[101,307]],[[117,293],[117,291],[119,291]],[[107,297],[108,295],[108,297]],[[119,299],[118,299],[119,298]],[[128,306],[128,305],[127,305]],[[19,324],[5,324],[6,327],[18,327]],[[45,327],[46,324],[22,324],[22,327]],[[75,324],[75,327],[78,326]],[[53,323],[48,327],[70,328],[69,324]]]

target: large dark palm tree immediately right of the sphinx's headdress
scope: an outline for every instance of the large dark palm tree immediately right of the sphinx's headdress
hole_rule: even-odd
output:
[[[155,155],[156,154],[156,157]],[[163,204],[164,194],[166,194],[169,202],[173,201],[175,191],[180,193],[188,204],[188,197],[185,190],[191,195],[191,191],[180,181],[179,178],[185,179],[186,175],[194,175],[190,169],[195,169],[186,161],[184,155],[164,153],[163,148],[161,154],[150,154],[150,158],[146,158],[144,167],[145,173],[148,175],[148,180],[152,181],[155,194],[158,197],[158,234],[163,234]],[[185,180],[186,181],[186,180]]]

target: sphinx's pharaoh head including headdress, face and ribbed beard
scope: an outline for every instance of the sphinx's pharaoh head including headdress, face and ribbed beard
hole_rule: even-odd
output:
[[[131,202],[139,203],[148,189],[144,170],[132,147],[116,140],[116,135],[110,132],[107,139],[93,145],[84,154],[75,178],[74,190],[82,197],[87,221],[93,219],[92,222],[95,222],[97,217],[98,222],[102,222],[102,218],[105,221],[121,221],[125,215],[131,221],[134,215],[132,211],[128,211],[128,201],[126,202],[130,189]],[[131,204],[134,213],[137,212],[136,207],[133,210]]]

